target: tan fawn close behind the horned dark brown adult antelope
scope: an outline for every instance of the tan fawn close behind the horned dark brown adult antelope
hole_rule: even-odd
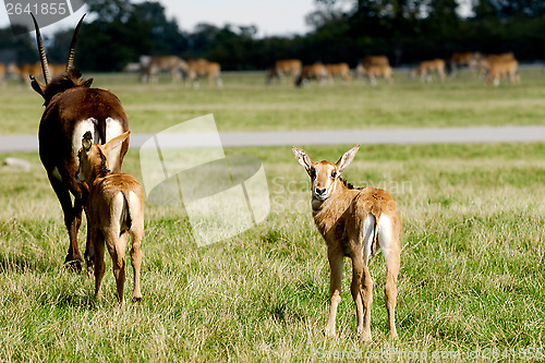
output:
[[[124,173],[112,173],[108,167],[108,154],[120,147],[130,132],[125,132],[105,145],[93,144],[93,135],[83,135],[78,153],[80,167],[75,179],[87,182],[87,206],[90,240],[95,247],[95,295],[100,295],[105,273],[105,242],[113,264],[118,288],[118,302],[123,305],[125,282],[125,249],[129,234],[132,239],[131,264],[134,271],[133,301],[140,302],[141,242],[144,234],[144,191],[138,182]]]

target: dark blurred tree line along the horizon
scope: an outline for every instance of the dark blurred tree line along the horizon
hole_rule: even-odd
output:
[[[257,28],[199,24],[180,29],[157,1],[87,0],[76,64],[85,71],[119,71],[141,55],[204,57],[223,70],[261,70],[276,59],[304,63],[349,62],[387,55],[393,65],[455,51],[513,51],[522,61],[545,59],[545,1],[540,0],[315,0],[304,35],[256,37]],[[48,39],[49,61],[62,63],[73,29]],[[29,34],[0,29],[0,59],[37,60]]]

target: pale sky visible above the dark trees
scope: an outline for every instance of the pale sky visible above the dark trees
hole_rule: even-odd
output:
[[[9,26],[3,0],[0,1],[0,27]],[[140,2],[140,1],[135,1]],[[314,0],[160,0],[167,17],[175,17],[178,25],[192,32],[198,23],[222,27],[226,24],[256,25],[258,37],[304,34],[310,31],[305,15],[316,9]],[[74,27],[85,10],[45,27],[50,35],[59,28]]]

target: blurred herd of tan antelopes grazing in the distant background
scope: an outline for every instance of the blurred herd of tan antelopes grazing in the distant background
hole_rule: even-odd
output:
[[[422,82],[433,82],[434,77],[444,82],[447,65],[452,76],[464,68],[469,69],[472,75],[479,74],[487,84],[499,85],[501,80],[508,80],[511,84],[520,82],[519,62],[512,52],[498,55],[455,52],[448,63],[443,59],[424,60],[410,70],[409,75]],[[49,64],[49,69],[53,76],[58,76],[64,72],[64,64]],[[178,56],[142,56],[140,62],[126,64],[123,71],[138,73],[143,83],[157,82],[159,74],[167,73],[172,82],[183,81],[186,87],[193,85],[197,88],[199,80],[208,80],[209,86],[214,84],[218,87],[223,86],[220,64],[203,58],[184,60]],[[38,77],[40,74],[39,62],[22,65],[0,63],[0,85],[10,75],[24,83],[29,76]],[[266,71],[265,80],[270,84],[274,80],[286,82],[284,80],[290,78],[292,84],[301,86],[308,85],[311,81],[316,81],[320,85],[330,84],[335,78],[350,82],[352,77],[365,77],[373,86],[377,85],[377,80],[384,80],[387,84],[393,82],[392,68],[386,56],[367,56],[354,70],[351,70],[346,62],[303,64],[299,59],[282,59],[277,60]]]

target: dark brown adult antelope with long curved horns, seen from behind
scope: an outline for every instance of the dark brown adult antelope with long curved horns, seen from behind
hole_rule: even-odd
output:
[[[93,80],[81,78],[81,72],[73,66],[77,33],[84,16],[74,31],[64,74],[51,78],[39,27],[33,15],[45,84],[31,77],[33,88],[44,97],[46,107],[38,131],[39,157],[64,214],[70,238],[65,264],[77,271],[82,269],[83,263],[77,231],[88,195],[87,185],[77,183],[74,178],[82,136],[88,131],[94,143],[104,144],[129,130],[126,114],[118,97],[108,90],[92,88]],[[129,141],[125,140],[121,147],[109,155],[113,172],[120,172],[128,148]],[[74,196],[73,204],[70,194]],[[85,261],[90,269],[94,250],[88,233]]]

